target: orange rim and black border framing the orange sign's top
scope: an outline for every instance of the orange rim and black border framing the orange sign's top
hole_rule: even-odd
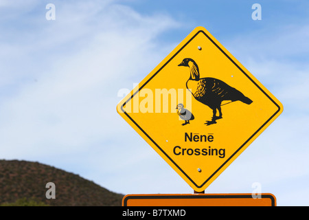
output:
[[[275,206],[275,197],[271,194],[261,195],[262,199],[271,199],[271,206]],[[129,199],[253,199],[252,195],[128,195],[123,200],[123,206],[128,206]],[[257,198],[258,199],[258,198]]]

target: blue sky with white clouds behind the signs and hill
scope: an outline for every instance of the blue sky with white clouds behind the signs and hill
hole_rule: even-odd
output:
[[[56,20],[45,6],[54,3]],[[262,20],[253,21],[253,3]],[[284,104],[206,192],[262,192],[308,206],[308,1],[0,1],[0,153],[114,192],[192,193],[117,114],[133,89],[203,26]]]

